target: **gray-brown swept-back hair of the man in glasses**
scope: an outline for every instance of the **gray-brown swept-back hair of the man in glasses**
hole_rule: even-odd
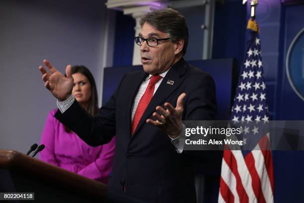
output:
[[[188,26],[185,17],[177,10],[172,8],[163,8],[142,15],[140,25],[143,27],[145,23],[149,23],[160,32],[168,33],[172,42],[177,42],[180,39],[184,40],[182,54],[187,52],[189,41]]]

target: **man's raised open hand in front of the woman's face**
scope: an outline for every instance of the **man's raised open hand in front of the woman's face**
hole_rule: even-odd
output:
[[[59,101],[67,100],[73,90],[74,79],[72,77],[72,66],[68,65],[66,68],[65,77],[62,73],[57,71],[57,69],[48,61],[43,60],[43,63],[48,67],[49,72],[39,66],[39,70],[42,74],[42,80],[45,82],[44,86],[56,97]]]

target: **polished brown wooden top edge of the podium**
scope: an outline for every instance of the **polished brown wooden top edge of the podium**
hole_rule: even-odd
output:
[[[41,181],[70,188],[76,193],[104,200],[108,194],[105,184],[80,176],[76,173],[50,165],[14,150],[0,150],[0,168],[26,171],[29,175],[41,177]]]

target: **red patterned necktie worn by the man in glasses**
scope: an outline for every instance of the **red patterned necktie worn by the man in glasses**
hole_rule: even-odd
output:
[[[152,76],[148,87],[143,95],[143,97],[141,98],[140,102],[138,103],[138,106],[136,108],[135,114],[134,114],[134,118],[132,121],[132,129],[131,129],[131,135],[133,135],[133,133],[135,132],[135,129],[141,119],[141,117],[143,116],[149,102],[151,101],[152,97],[153,97],[153,93],[154,93],[154,88],[155,88],[155,84],[161,79],[162,77],[159,75],[155,75]]]

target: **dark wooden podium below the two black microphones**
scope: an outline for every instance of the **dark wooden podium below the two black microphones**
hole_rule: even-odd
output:
[[[43,203],[103,203],[108,188],[20,152],[0,150],[0,192],[35,193],[34,202]]]

